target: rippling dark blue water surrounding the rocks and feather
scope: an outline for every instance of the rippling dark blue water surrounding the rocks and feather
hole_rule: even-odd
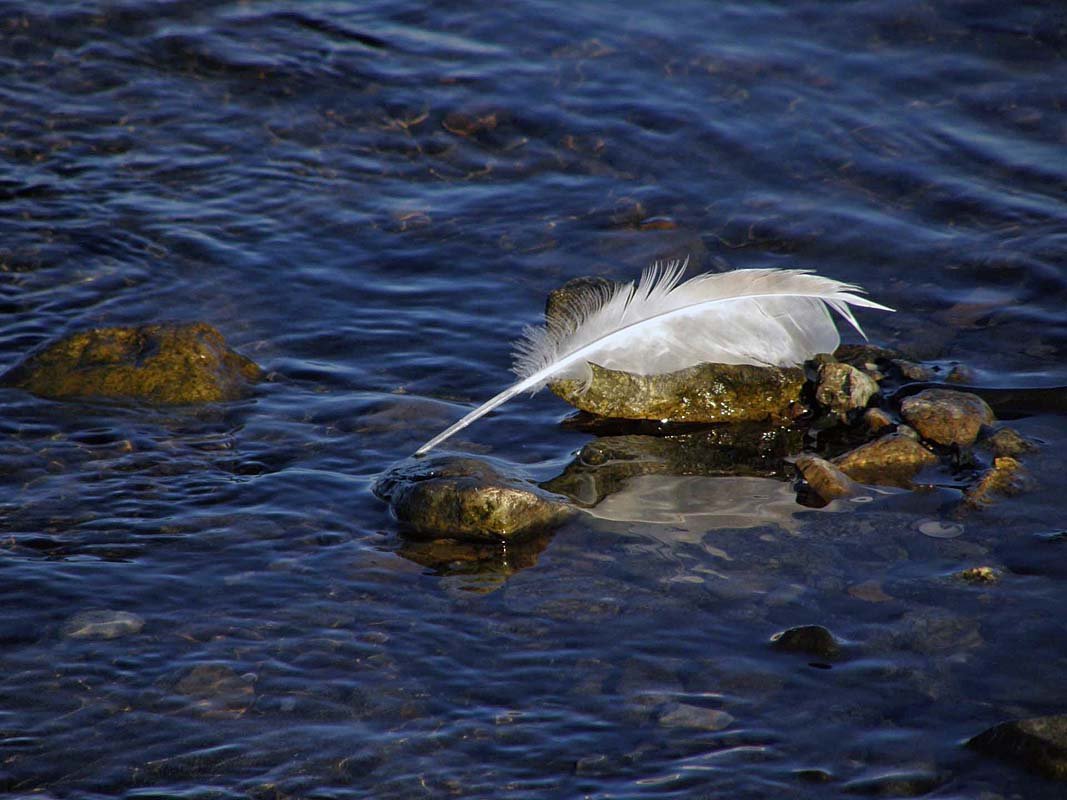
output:
[[[0,367],[188,319],[271,373],[207,410],[0,394],[0,788],[1061,797],[960,747],[1067,711],[1054,399],[1013,422],[1039,489],[954,539],[923,533],[951,487],[702,479],[442,554],[369,485],[505,384],[552,288],[656,257],[816,268],[899,309],[875,342],[1067,383],[1067,14],[463,5],[0,0]],[[547,477],[566,414],[452,444]],[[64,636],[92,609],[144,628]],[[769,649],[805,623],[845,657]]]

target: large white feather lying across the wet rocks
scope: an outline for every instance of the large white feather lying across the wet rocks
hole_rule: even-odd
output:
[[[590,291],[562,318],[526,329],[515,345],[519,381],[431,438],[421,455],[521,391],[551,380],[587,385],[589,363],[652,375],[697,364],[787,367],[841,342],[832,308],[861,335],[850,305],[892,308],[856,294],[853,284],[809,270],[736,270],[679,283],[685,263],[653,265],[637,286]]]

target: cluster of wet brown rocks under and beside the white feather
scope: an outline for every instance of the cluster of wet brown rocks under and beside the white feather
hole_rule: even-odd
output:
[[[568,283],[548,298],[550,324],[566,324],[569,309],[614,287],[602,278]],[[871,495],[870,486],[951,482],[961,485],[959,513],[1033,484],[1018,460],[1033,443],[994,430],[982,397],[933,383],[935,370],[891,350],[845,345],[786,369],[590,369],[586,386],[550,387],[593,420],[610,420],[586,425],[611,435],[587,444],[555,478],[538,485],[503,462],[437,458],[401,464],[376,492],[419,537],[491,542],[544,533],[639,476],[796,478],[801,502],[812,506]],[[656,435],[642,430],[650,425]]]

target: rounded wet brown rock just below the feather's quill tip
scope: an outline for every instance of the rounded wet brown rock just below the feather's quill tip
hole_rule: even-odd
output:
[[[513,467],[477,459],[410,460],[373,491],[409,529],[431,538],[498,542],[551,530],[574,511]]]

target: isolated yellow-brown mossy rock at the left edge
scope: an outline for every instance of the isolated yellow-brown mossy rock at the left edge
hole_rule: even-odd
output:
[[[73,334],[28,356],[0,384],[55,399],[189,404],[238,399],[259,377],[211,325],[174,322]]]

